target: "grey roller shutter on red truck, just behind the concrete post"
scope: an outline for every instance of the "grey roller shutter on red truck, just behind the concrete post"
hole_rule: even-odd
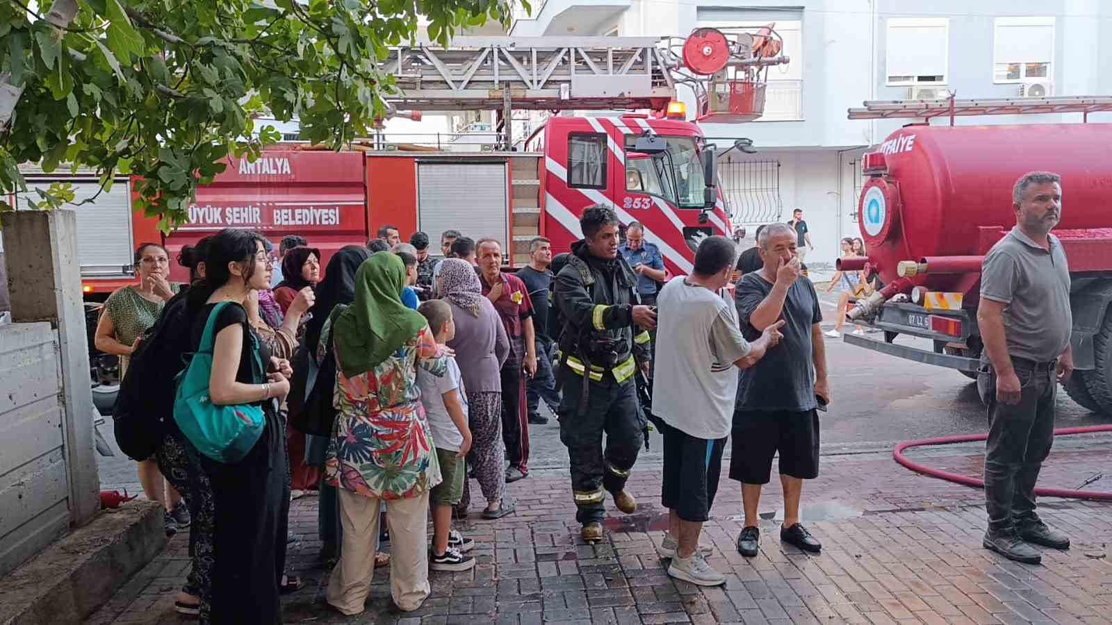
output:
[[[46,190],[56,180],[29,178],[27,194],[19,194],[18,207],[30,208],[27,198],[38,200],[36,188]],[[61,180],[73,185],[73,201],[80,202],[97,196],[100,183],[86,180]],[[78,258],[81,275],[86,277],[112,277],[125,275],[123,267],[135,262],[135,246],[131,230],[131,183],[119,179],[112,188],[101,192],[97,199],[81,206],[67,205],[77,212]],[[160,241],[153,241],[160,242]]]

